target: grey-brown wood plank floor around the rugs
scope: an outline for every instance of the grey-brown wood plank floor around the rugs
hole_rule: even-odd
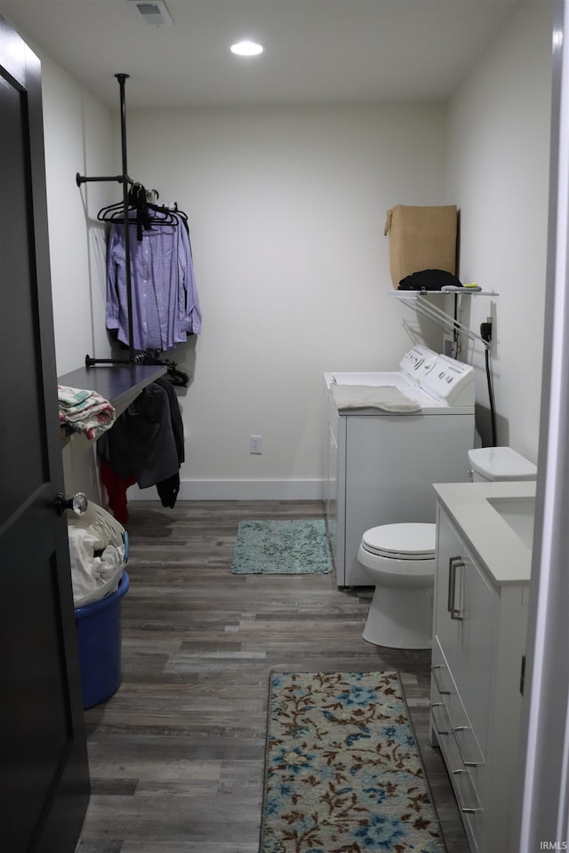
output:
[[[429,745],[429,652],[362,639],[372,590],[234,576],[238,522],[320,502],[131,503],[123,681],[86,712],[92,799],[78,853],[258,853],[268,674],[397,669],[448,853],[468,853]],[[373,851],[370,851],[373,853]]]

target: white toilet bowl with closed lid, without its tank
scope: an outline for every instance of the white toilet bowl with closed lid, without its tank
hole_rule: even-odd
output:
[[[357,560],[375,586],[364,639],[391,649],[430,649],[435,524],[384,524],[366,530]]]

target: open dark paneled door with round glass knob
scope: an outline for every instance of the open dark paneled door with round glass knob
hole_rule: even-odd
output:
[[[0,850],[73,853],[89,797],[67,522],[40,68],[0,16]]]

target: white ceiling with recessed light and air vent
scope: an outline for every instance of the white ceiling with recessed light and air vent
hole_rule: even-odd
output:
[[[0,12],[110,108],[446,100],[521,0],[0,0]],[[537,2],[537,0],[535,0]],[[229,45],[252,38],[260,57]]]

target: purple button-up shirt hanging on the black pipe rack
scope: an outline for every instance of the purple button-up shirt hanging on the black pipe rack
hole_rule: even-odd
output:
[[[180,217],[178,217],[180,219]],[[131,243],[132,348],[172,349],[202,328],[188,233],[176,226],[129,226]],[[107,249],[107,328],[129,345],[124,226],[111,226]]]

